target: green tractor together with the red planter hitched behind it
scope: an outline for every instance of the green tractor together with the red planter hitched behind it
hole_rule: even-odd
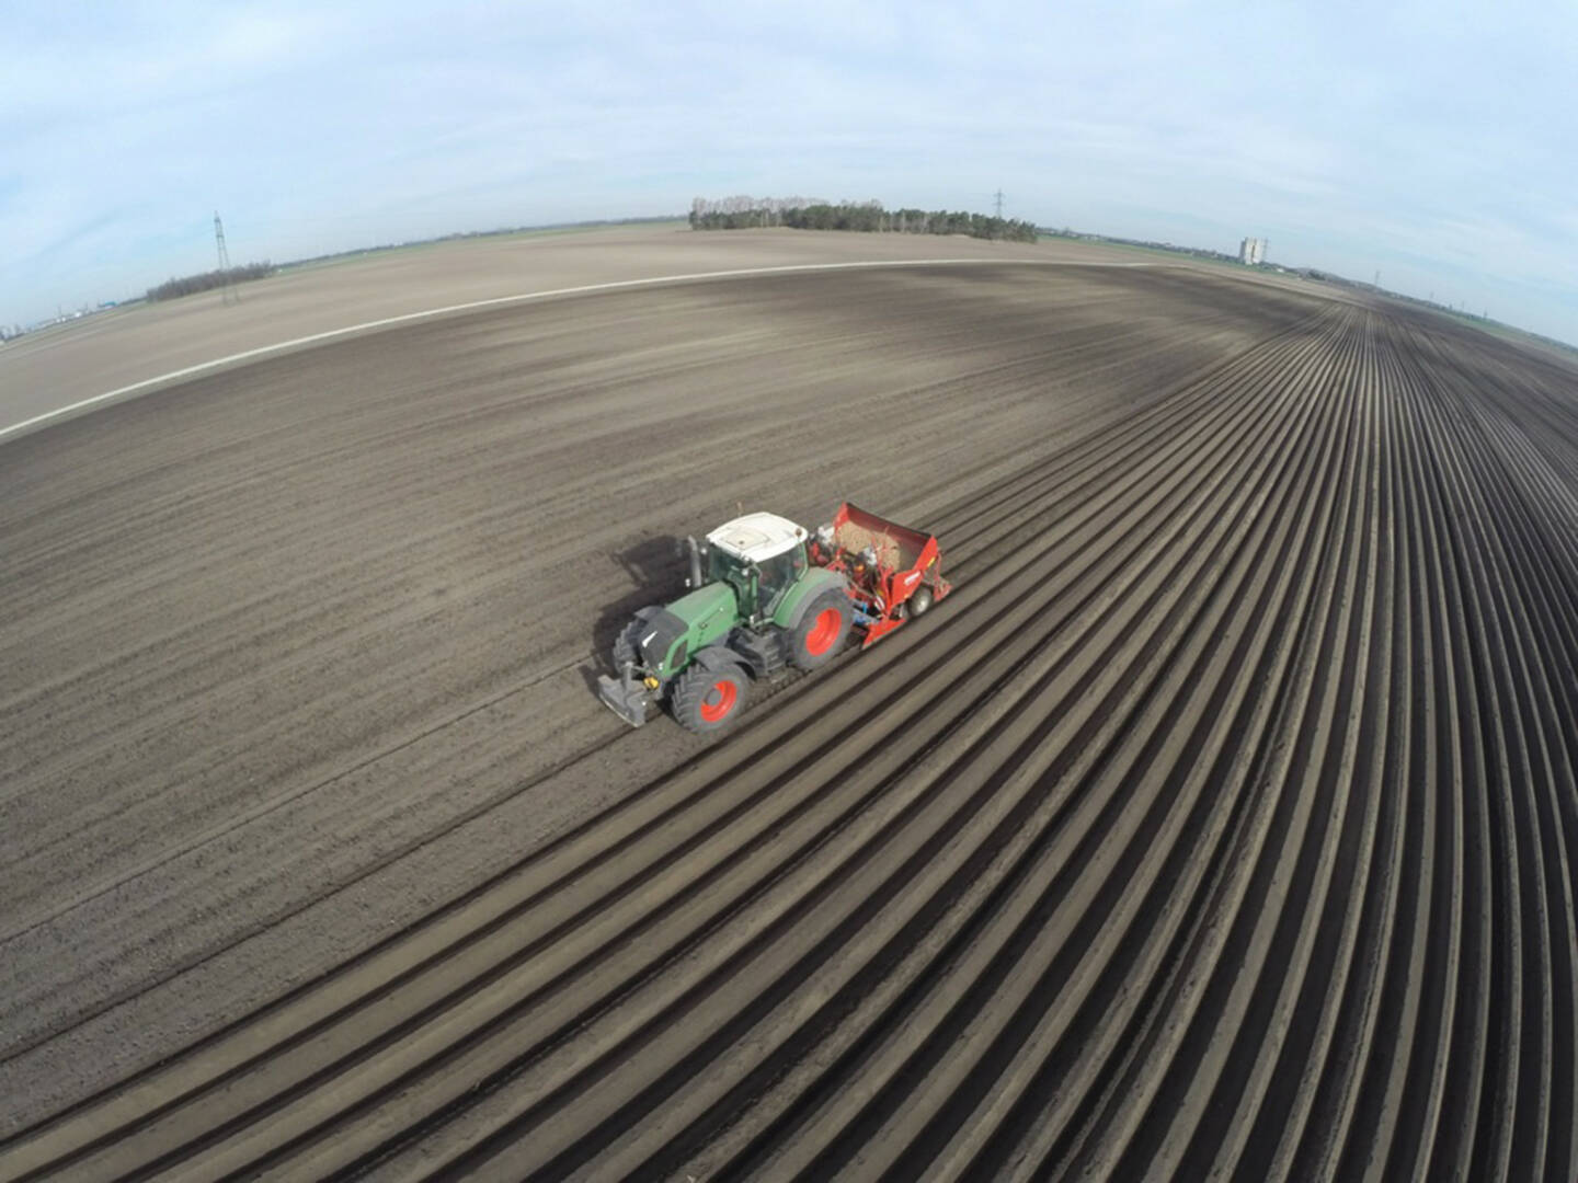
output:
[[[851,628],[871,645],[950,590],[936,538],[847,502],[816,538],[754,513],[705,544],[685,541],[690,593],[641,609],[614,642],[619,677],[598,678],[598,696],[633,727],[666,700],[690,730],[720,732],[743,713],[754,680],[821,669]]]

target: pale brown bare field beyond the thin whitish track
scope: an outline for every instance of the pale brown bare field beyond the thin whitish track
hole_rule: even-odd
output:
[[[0,347],[0,434],[36,415],[188,366],[388,317],[587,284],[914,259],[1190,265],[1169,256],[1059,240],[1027,244],[896,233],[693,232],[683,226],[434,243],[281,271],[240,287],[237,304],[208,292],[22,336]]]

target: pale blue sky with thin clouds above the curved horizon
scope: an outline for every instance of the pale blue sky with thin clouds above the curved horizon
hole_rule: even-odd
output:
[[[0,0],[0,325],[811,194],[1237,251],[1578,342],[1565,3]]]

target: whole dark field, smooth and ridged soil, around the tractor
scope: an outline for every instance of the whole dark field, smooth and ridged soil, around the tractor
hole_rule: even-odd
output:
[[[704,745],[675,535],[955,593]],[[0,448],[0,1177],[1573,1178],[1578,369],[1008,263],[589,293]]]

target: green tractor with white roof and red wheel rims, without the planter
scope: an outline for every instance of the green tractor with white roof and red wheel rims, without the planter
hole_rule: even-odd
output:
[[[598,696],[639,727],[667,699],[693,732],[720,732],[745,708],[753,678],[794,664],[825,666],[849,636],[854,603],[846,577],[811,562],[803,527],[768,513],[746,514],[690,549],[690,593],[644,607],[614,642],[619,677]]]

